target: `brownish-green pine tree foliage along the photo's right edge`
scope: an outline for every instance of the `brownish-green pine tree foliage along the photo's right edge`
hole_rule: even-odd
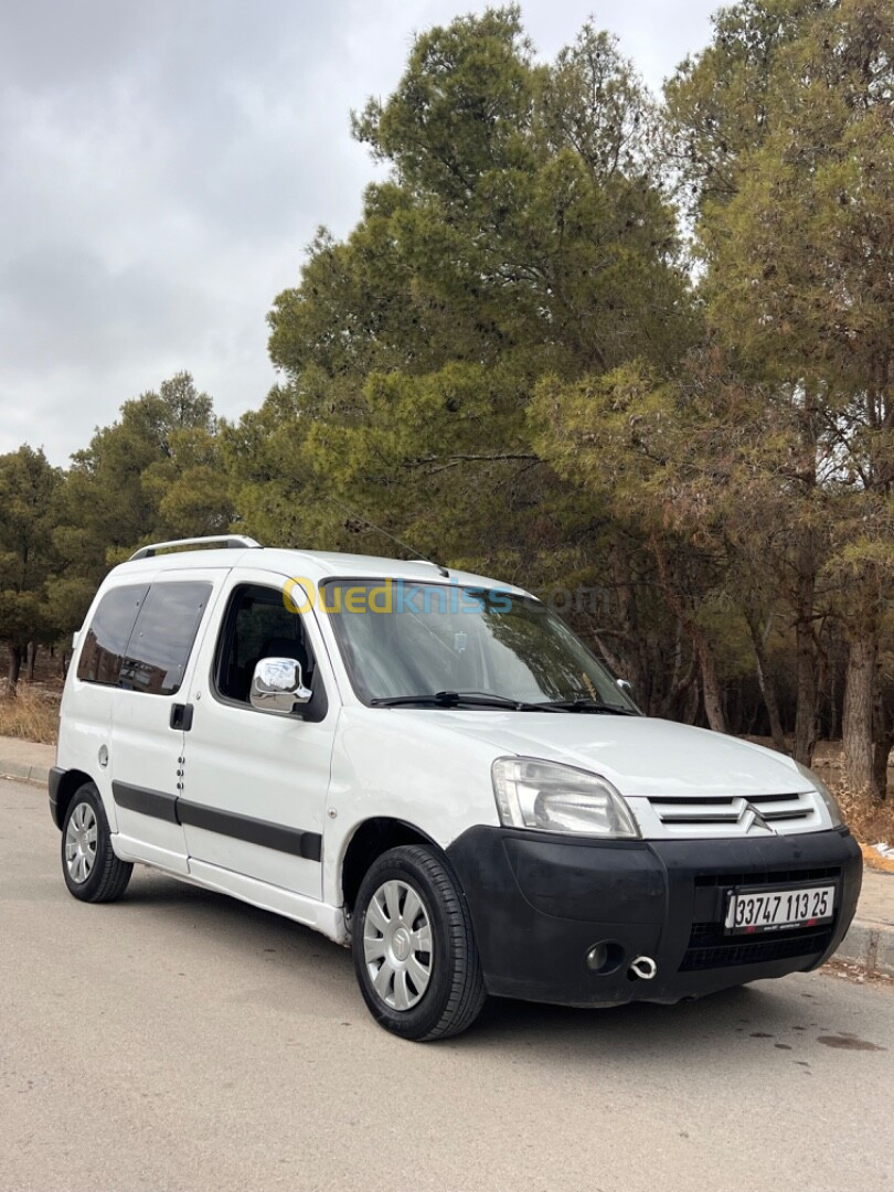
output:
[[[801,467],[800,499],[822,498],[826,570],[849,570],[850,606],[864,607],[874,591],[879,615],[886,597],[875,565],[855,601],[861,571],[846,560],[855,536],[876,558],[892,552],[894,19],[888,0],[758,12],[766,119],[750,138],[728,138],[724,193],[700,159],[708,322],[744,375],[800,423],[811,465]],[[724,92],[727,72],[709,51],[671,87],[679,128],[688,118],[693,136],[703,132],[702,100]],[[763,472],[788,484],[793,451],[766,445]],[[851,616],[844,604],[838,613]]]

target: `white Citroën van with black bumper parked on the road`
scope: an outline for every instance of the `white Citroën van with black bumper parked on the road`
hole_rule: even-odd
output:
[[[488,993],[673,1002],[815,968],[862,879],[809,770],[641,715],[521,589],[246,538],[106,578],[50,807],[75,898],[139,862],[275,911],[350,945],[411,1039]]]

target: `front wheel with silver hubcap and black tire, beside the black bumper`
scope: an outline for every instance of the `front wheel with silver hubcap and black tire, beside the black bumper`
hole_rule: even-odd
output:
[[[373,1018],[405,1039],[459,1035],[486,991],[472,920],[446,859],[423,845],[370,867],[354,908],[354,968]]]

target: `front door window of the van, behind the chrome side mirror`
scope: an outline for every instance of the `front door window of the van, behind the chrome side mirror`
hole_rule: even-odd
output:
[[[218,694],[248,704],[252,676],[261,658],[294,658],[304,682],[312,687],[313,654],[302,619],[283,603],[283,591],[242,584],[230,597],[217,642],[215,676]]]

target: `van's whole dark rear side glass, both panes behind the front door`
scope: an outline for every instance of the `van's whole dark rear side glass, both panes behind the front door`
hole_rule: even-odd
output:
[[[77,678],[174,695],[210,595],[211,584],[198,582],[113,588],[91,621]]]

